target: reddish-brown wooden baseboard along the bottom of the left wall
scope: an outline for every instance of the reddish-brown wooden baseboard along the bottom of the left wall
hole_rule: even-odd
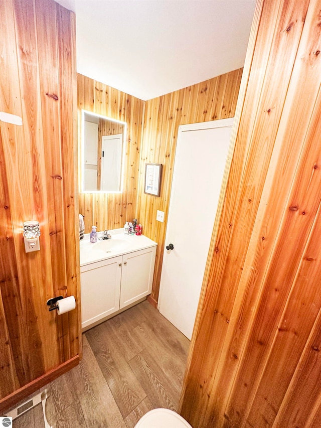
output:
[[[57,379],[57,377],[66,373],[73,367],[76,367],[79,364],[79,361],[79,355],[76,355],[75,357],[71,358],[70,360],[66,361],[55,369],[50,370],[49,372],[43,374],[32,382],[27,383],[27,385],[17,389],[10,395],[7,395],[7,397],[0,400],[0,415],[4,414],[4,410],[8,410],[10,407],[15,406],[20,400],[24,400],[30,394],[37,391],[37,389],[42,388],[43,386],[47,385],[47,383],[51,382],[54,379]]]

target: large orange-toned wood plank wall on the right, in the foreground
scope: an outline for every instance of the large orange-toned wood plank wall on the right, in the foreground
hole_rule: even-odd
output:
[[[320,0],[259,0],[193,333],[194,428],[319,427]]]

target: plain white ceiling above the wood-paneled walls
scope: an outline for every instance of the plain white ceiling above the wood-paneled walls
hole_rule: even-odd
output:
[[[77,72],[143,100],[244,65],[255,0],[57,0]]]

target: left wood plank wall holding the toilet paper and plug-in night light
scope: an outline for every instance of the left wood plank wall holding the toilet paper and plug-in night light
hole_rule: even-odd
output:
[[[75,361],[81,336],[75,16],[52,0],[5,0],[0,16],[0,111],[23,119],[0,121],[1,413]],[[40,251],[27,254],[32,219]],[[59,295],[74,295],[76,310],[49,312]]]

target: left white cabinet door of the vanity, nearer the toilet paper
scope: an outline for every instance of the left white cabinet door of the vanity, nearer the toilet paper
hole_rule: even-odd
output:
[[[118,311],[121,256],[81,267],[81,326]]]

